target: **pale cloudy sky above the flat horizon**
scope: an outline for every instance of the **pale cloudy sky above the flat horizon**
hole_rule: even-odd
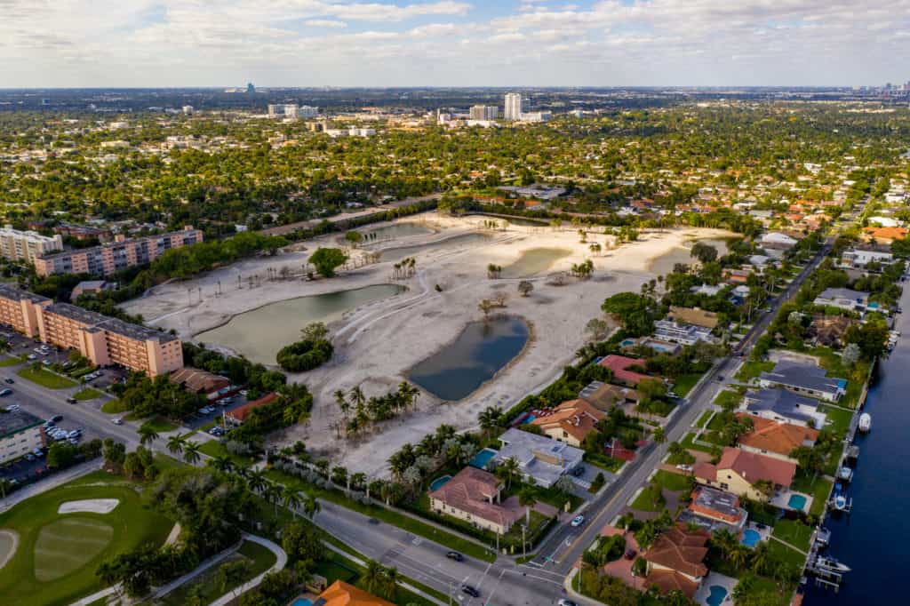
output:
[[[910,0],[0,0],[0,87],[859,86]]]

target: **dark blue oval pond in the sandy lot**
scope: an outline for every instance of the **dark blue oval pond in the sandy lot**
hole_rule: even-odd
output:
[[[454,342],[410,370],[408,379],[441,399],[469,396],[515,358],[530,331],[521,318],[471,322]]]

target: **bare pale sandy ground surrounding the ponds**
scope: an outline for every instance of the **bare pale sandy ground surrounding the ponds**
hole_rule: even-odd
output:
[[[293,377],[306,382],[316,397],[312,419],[306,426],[288,429],[276,437],[281,443],[303,439],[309,449],[333,462],[368,474],[381,474],[389,455],[401,444],[419,441],[440,423],[468,429],[476,424],[480,410],[494,405],[507,409],[529,392],[545,387],[563,366],[571,363],[574,352],[585,341],[585,324],[601,316],[604,298],[626,290],[638,291],[642,283],[654,278],[649,272],[654,258],[672,251],[678,254],[680,247],[691,246],[694,239],[730,236],[712,229],[663,230],[642,234],[640,241],[632,244],[612,250],[604,246],[602,252],[592,253],[591,242],[605,245],[612,237],[591,232],[587,242],[581,243],[577,230],[571,227],[555,230],[511,226],[484,232],[489,237],[482,241],[464,241],[457,237],[479,231],[484,217],[456,219],[430,213],[408,220],[420,221],[432,227],[434,233],[399,238],[371,248],[427,245],[414,253],[416,275],[397,281],[409,291],[352,310],[332,323],[335,357],[328,365]],[[446,244],[445,240],[452,237],[457,239]],[[288,267],[291,273],[299,273],[310,251],[337,241],[337,236],[323,237],[307,242],[306,251],[250,259],[201,278],[164,285],[147,298],[130,301],[124,307],[130,313],[143,314],[152,325],[176,328],[182,338],[192,338],[239,312],[270,302],[392,281],[391,262],[345,271],[330,280],[265,279],[268,268],[278,272]],[[522,298],[517,292],[521,278],[487,277],[488,264],[502,266],[508,275],[509,266],[522,253],[544,247],[566,249],[570,254],[528,278],[534,284],[530,297]],[[362,255],[360,251],[353,254]],[[593,278],[570,278],[562,286],[553,285],[548,278],[588,258],[594,263]],[[249,277],[253,275],[263,279],[260,286],[250,288]],[[243,288],[238,288],[238,276]],[[332,397],[335,390],[360,385],[370,396],[394,389],[405,379],[408,369],[457,338],[468,322],[482,318],[477,307],[481,298],[493,298],[498,293],[508,296],[504,311],[528,320],[534,335],[507,369],[467,399],[440,402],[424,393],[420,408],[407,417],[384,423],[358,439],[337,438],[333,429],[339,419]],[[297,330],[298,327],[288,328],[288,341],[296,338]]]

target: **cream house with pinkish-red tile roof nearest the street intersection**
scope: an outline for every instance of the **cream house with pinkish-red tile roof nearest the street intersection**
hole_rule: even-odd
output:
[[[500,504],[502,480],[488,471],[466,467],[430,492],[430,509],[497,534],[511,529],[515,513]]]

